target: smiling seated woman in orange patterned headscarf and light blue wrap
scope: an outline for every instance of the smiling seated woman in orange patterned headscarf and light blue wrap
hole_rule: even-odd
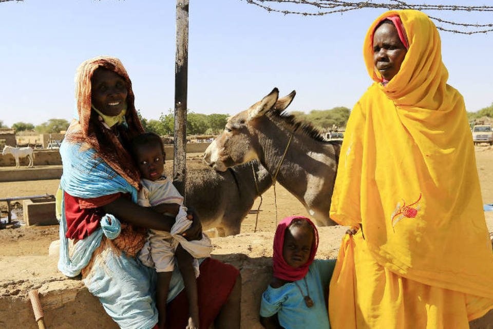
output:
[[[187,297],[179,271],[173,272],[167,312],[156,308],[156,271],[136,257],[146,229],[169,232],[174,217],[137,202],[139,171],[128,146],[143,132],[132,84],[114,57],[83,62],[75,76],[77,118],[60,148],[63,175],[56,195],[60,259],[64,275],[82,280],[106,313],[126,329],[184,328]],[[192,212],[186,239],[201,237]],[[177,267],[175,267],[177,269]],[[231,265],[206,258],[197,278],[200,327],[239,328],[241,277]]]

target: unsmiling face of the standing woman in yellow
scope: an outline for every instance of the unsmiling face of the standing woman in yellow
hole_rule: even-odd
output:
[[[373,34],[373,63],[385,80],[392,79],[401,69],[407,49],[392,24],[380,25]]]

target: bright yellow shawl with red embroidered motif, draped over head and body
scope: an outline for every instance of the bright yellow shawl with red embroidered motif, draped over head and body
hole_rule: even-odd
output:
[[[409,40],[383,86],[374,69],[375,26],[399,15]],[[370,26],[364,58],[375,81],[356,103],[340,152],[330,215],[363,224],[373,258],[424,284],[493,296],[493,254],[465,106],[447,85],[437,28],[415,10]]]

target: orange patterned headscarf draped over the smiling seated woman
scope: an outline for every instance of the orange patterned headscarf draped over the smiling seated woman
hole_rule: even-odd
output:
[[[103,121],[98,119],[98,114],[91,109],[91,78],[99,67],[116,72],[125,80],[128,88],[126,124],[115,126],[112,129],[105,127]],[[144,130],[135,109],[132,83],[122,62],[115,57],[108,56],[100,56],[83,62],[75,74],[75,100],[79,120],[70,124],[66,139],[70,142],[85,143],[96,150],[113,170],[138,189],[139,171],[131,161],[125,144]]]

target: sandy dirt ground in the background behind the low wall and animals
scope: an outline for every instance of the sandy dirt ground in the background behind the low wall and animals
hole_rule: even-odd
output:
[[[476,147],[476,162],[481,182],[483,203],[493,203],[493,148]],[[202,168],[204,163],[201,154],[187,156],[187,168]],[[5,169],[0,169],[5,170]],[[173,172],[173,161],[166,161],[166,172]],[[34,180],[22,182],[0,182],[0,198],[24,195],[54,194],[60,180]],[[285,188],[276,185],[277,217],[302,214],[308,215],[305,208]],[[257,198],[250,213],[241,225],[241,233],[254,231],[257,209],[260,198]],[[6,204],[2,203],[2,217],[6,216]],[[262,204],[258,211],[257,231],[273,232],[275,230],[276,206],[274,189],[270,188],[262,195]],[[0,257],[14,255],[46,255],[51,241],[58,239],[58,226],[29,227],[0,230]],[[269,251],[271,252],[271,251]],[[269,254],[270,255],[270,254]],[[267,254],[266,254],[267,256]]]

